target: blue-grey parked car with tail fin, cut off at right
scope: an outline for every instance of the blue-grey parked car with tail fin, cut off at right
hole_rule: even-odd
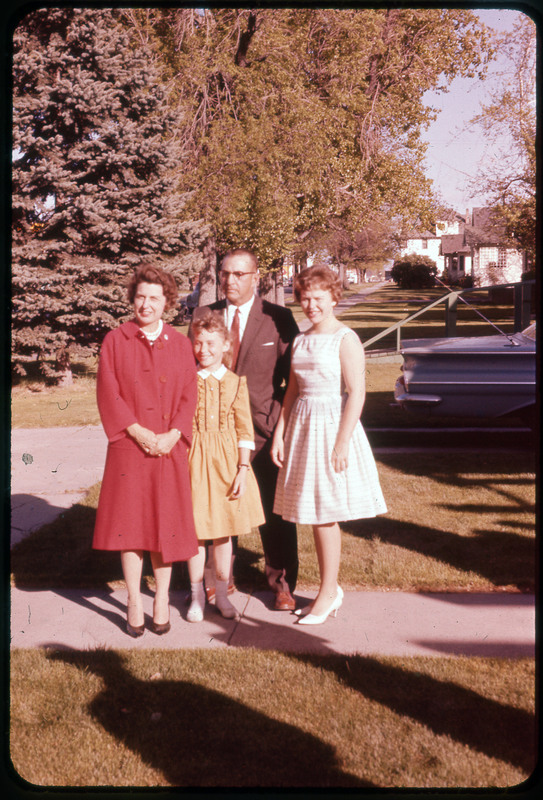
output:
[[[522,333],[407,339],[394,397],[430,416],[536,419],[536,323]]]

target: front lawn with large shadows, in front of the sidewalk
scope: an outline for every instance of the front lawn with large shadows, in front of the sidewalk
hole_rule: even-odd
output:
[[[19,650],[11,758],[39,786],[509,787],[534,768],[534,678],[529,659]]]

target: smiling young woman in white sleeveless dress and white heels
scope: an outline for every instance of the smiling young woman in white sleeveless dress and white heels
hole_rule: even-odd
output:
[[[293,343],[289,383],[273,437],[279,466],[274,511],[313,527],[320,587],[297,609],[300,625],[317,625],[343,601],[338,585],[338,522],[386,512],[373,453],[360,423],[365,399],[364,349],[339,322],[338,276],[313,266],[296,276],[294,295],[311,327]]]

